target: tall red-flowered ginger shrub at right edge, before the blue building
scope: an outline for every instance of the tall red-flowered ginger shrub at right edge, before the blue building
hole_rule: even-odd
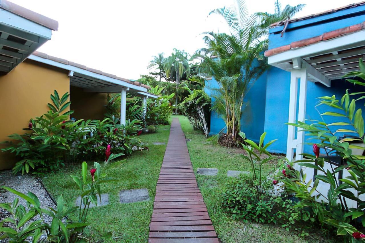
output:
[[[360,59],[360,72],[351,72],[346,77],[358,77],[358,80],[349,79],[347,81],[354,84],[365,85],[365,65]],[[296,126],[307,132],[307,135],[318,140],[313,144],[314,155],[303,154],[304,159],[296,161],[303,167],[317,170],[317,175],[313,180],[306,180],[307,174],[303,171],[291,172],[291,177],[284,177],[283,181],[289,192],[295,193],[300,198],[298,207],[310,207],[321,224],[331,225],[337,229],[337,235],[343,235],[346,241],[356,241],[365,238],[360,232],[365,227],[365,203],[361,196],[365,193],[365,157],[354,155],[354,149],[364,150],[358,143],[364,144],[364,119],[362,109],[356,110],[356,103],[365,98],[352,99],[351,96],[363,94],[365,92],[349,93],[346,90],[341,100],[335,96],[320,97],[319,105],[327,105],[333,111],[327,111],[321,116],[341,117],[341,121],[326,123],[322,121],[312,121],[311,124],[298,122],[289,124]],[[334,126],[341,128],[335,130]],[[343,134],[354,134],[354,136],[343,136]],[[357,142],[354,143],[354,142]],[[319,149],[326,148],[327,155],[337,155],[342,158],[342,165],[337,167],[331,165],[330,169],[325,169],[328,163],[327,157],[320,157]],[[329,152],[327,152],[329,151]],[[340,174],[348,173],[345,178]],[[338,178],[341,178],[338,180]],[[328,188],[328,193],[320,193],[320,186]],[[356,208],[350,208],[346,201],[356,202]]]

